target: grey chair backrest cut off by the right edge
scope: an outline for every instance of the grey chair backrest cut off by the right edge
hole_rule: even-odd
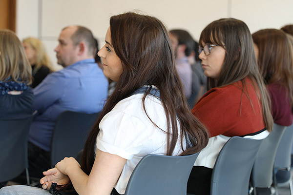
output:
[[[287,168],[291,165],[291,153],[293,144],[293,125],[285,130],[275,156],[274,167]]]

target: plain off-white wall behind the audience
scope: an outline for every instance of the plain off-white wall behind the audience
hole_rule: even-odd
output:
[[[90,28],[100,47],[104,44],[109,18],[126,11],[141,10],[166,24],[182,28],[198,40],[202,29],[220,18],[237,18],[251,32],[280,28],[293,23],[293,0],[17,0],[17,34],[20,39],[42,39],[56,64],[54,47],[61,29],[70,24]]]

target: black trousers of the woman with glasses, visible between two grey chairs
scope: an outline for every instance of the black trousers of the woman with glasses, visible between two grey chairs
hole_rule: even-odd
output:
[[[193,195],[209,195],[212,169],[193,166],[187,183],[187,193]]]

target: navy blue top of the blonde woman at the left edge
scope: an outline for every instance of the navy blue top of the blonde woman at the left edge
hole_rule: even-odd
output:
[[[0,119],[22,119],[32,115],[34,94],[29,87],[20,95],[6,94],[0,97]]]

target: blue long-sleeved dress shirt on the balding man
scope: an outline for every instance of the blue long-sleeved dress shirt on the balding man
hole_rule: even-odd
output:
[[[29,141],[50,151],[52,131],[58,116],[66,110],[88,114],[100,112],[107,89],[108,81],[94,59],[81,60],[49,74],[33,89],[36,114]]]

